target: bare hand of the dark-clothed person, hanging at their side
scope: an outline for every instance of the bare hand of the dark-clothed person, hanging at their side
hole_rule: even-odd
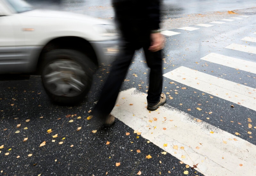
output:
[[[151,45],[148,48],[151,52],[156,52],[164,48],[164,36],[160,33],[151,33],[150,34]]]

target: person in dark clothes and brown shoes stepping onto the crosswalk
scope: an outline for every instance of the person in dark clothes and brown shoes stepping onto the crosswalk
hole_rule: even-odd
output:
[[[113,0],[116,23],[122,35],[120,53],[112,63],[112,68],[100,99],[92,110],[92,115],[111,126],[115,117],[110,112],[115,106],[119,89],[124,81],[136,50],[143,48],[150,68],[147,109],[156,110],[166,102],[162,93],[162,57],[164,37],[160,34],[160,0]]]

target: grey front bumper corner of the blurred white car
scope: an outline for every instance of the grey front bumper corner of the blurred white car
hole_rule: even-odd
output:
[[[98,63],[110,63],[112,62],[117,53],[119,52],[119,40],[108,40],[108,41],[92,41],[90,42],[92,45]]]

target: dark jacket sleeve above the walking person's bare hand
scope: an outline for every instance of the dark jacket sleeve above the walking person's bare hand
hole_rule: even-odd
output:
[[[147,11],[149,18],[150,30],[157,30],[160,28],[160,5],[161,0],[148,0]]]

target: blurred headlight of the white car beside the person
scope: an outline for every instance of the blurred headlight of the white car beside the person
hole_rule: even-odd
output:
[[[95,25],[95,30],[102,36],[117,36],[117,30],[115,25]]]

